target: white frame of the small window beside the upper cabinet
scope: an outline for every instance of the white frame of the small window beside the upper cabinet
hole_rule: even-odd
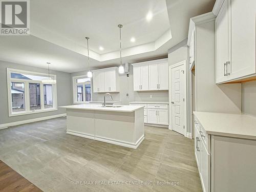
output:
[[[73,76],[73,103],[74,104],[82,104],[82,103],[90,103],[93,100],[93,95],[92,95],[92,78],[91,79],[91,101],[85,101],[86,100],[86,89],[85,89],[85,82],[79,82],[77,83],[77,79],[82,79],[82,78],[90,78],[87,75],[79,75],[79,76]],[[78,101],[77,100],[77,86],[82,85],[83,86],[83,101]]]

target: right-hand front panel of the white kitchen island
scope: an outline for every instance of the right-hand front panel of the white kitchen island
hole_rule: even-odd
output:
[[[135,132],[135,112],[95,112],[96,140],[137,148]]]

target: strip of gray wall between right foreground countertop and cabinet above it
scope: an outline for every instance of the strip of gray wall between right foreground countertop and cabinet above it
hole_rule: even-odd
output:
[[[256,81],[242,83],[242,112],[256,117]]]

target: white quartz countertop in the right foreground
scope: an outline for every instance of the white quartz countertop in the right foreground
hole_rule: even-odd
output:
[[[249,115],[194,112],[207,134],[256,139],[256,118]]]

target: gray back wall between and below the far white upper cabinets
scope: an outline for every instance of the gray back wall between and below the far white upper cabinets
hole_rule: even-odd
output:
[[[72,73],[71,76],[86,75],[87,71]],[[72,78],[71,78],[72,83]],[[129,96],[126,96],[126,93]],[[120,93],[111,93],[114,101],[129,104],[131,101],[168,101],[168,91],[133,91],[133,66],[130,65],[130,76],[120,75]],[[152,95],[152,98],[150,96]],[[92,93],[93,101],[103,101],[104,93]],[[110,98],[106,98],[110,101]]]

